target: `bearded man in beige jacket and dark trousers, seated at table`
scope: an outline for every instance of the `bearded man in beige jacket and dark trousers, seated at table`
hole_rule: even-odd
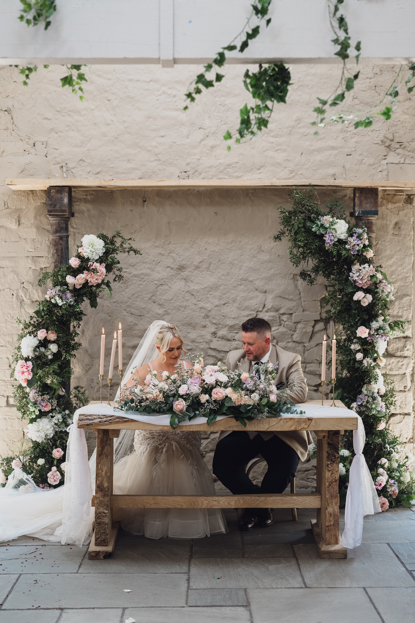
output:
[[[258,363],[277,364],[274,384],[296,379],[289,392],[292,402],[304,402],[307,383],[301,369],[301,356],[271,343],[271,325],[263,318],[249,318],[242,323],[243,350],[228,353],[226,367],[234,371],[238,362],[243,372],[252,372]],[[312,438],[303,430],[278,432],[223,431],[213,457],[213,473],[232,493],[282,493],[296,475],[299,460],[307,458]],[[260,454],[268,464],[261,486],[254,485],[246,475],[246,465]],[[239,522],[240,530],[263,528],[273,523],[271,508],[245,508]]]

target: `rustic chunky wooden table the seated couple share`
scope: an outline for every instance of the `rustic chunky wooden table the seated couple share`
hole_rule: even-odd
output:
[[[96,404],[91,402],[90,404]],[[305,404],[321,404],[309,401]],[[330,405],[330,401],[325,401]],[[342,402],[338,407],[346,408]],[[247,424],[246,429],[233,417],[207,424],[179,426],[177,430],[313,430],[317,436],[317,492],[278,493],[259,495],[114,495],[113,494],[113,442],[123,429],[171,430],[170,426],[159,426],[147,422],[136,422],[119,416],[80,415],[78,428],[93,429],[96,432],[96,481],[95,530],[93,532],[89,558],[101,559],[110,556],[115,548],[119,523],[112,521],[113,508],[317,508],[317,520],[311,521],[315,543],[321,558],[347,558],[347,550],[340,545],[338,511],[338,462],[340,434],[343,430],[357,429],[357,416],[282,416],[257,420]]]

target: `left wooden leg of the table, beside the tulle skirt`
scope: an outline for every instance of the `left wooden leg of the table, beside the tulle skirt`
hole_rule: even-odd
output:
[[[113,493],[113,436],[109,430],[96,432],[95,530],[88,558],[100,559],[114,551],[119,524],[112,523],[111,493]]]

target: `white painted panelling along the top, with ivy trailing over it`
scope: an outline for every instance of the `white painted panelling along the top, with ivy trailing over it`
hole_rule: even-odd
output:
[[[26,27],[19,2],[0,0],[0,63],[200,63],[243,26],[249,0],[58,0],[52,26]],[[414,0],[345,0],[362,59],[415,57]],[[274,0],[266,31],[233,62],[337,62],[327,0]]]

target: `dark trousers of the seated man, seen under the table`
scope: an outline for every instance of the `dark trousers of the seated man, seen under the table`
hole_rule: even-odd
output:
[[[245,467],[256,455],[268,464],[261,486],[254,485]],[[213,473],[232,493],[282,493],[296,475],[299,456],[282,439],[260,434],[251,439],[247,432],[233,431],[221,439],[213,456]]]

